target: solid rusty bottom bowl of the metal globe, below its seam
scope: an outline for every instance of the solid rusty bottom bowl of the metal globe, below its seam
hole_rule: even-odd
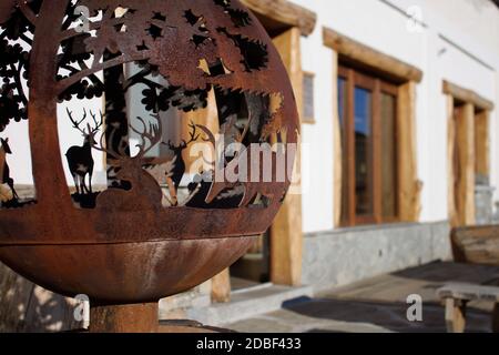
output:
[[[92,302],[154,302],[210,280],[255,237],[99,245],[1,246],[0,260],[34,283]]]

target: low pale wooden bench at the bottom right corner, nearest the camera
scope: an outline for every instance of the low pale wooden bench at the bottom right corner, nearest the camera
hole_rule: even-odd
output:
[[[499,333],[499,287],[452,283],[439,288],[437,295],[446,304],[447,332],[465,332],[466,307],[470,301],[490,301],[496,303],[492,332]]]

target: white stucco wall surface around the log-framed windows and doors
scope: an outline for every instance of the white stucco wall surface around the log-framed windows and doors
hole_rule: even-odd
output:
[[[303,129],[315,173],[303,196],[304,232],[333,227],[332,57],[322,42],[328,27],[424,71],[417,89],[418,175],[424,182],[421,222],[447,219],[447,113],[441,82],[447,79],[499,103],[499,10],[488,0],[293,0],[318,14],[304,38],[303,67],[315,72],[315,125]],[[409,8],[422,23],[410,31]],[[492,112],[492,184],[499,186],[499,114]],[[315,166],[315,168],[314,168]],[[499,194],[496,195],[499,197]]]

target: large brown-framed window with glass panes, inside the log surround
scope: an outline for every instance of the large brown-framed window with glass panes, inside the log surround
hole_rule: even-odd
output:
[[[338,70],[344,225],[397,221],[397,87]]]

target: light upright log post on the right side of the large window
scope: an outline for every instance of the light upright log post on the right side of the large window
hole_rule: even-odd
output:
[[[398,216],[403,222],[419,220],[422,183],[417,174],[416,83],[398,89],[397,101]]]

